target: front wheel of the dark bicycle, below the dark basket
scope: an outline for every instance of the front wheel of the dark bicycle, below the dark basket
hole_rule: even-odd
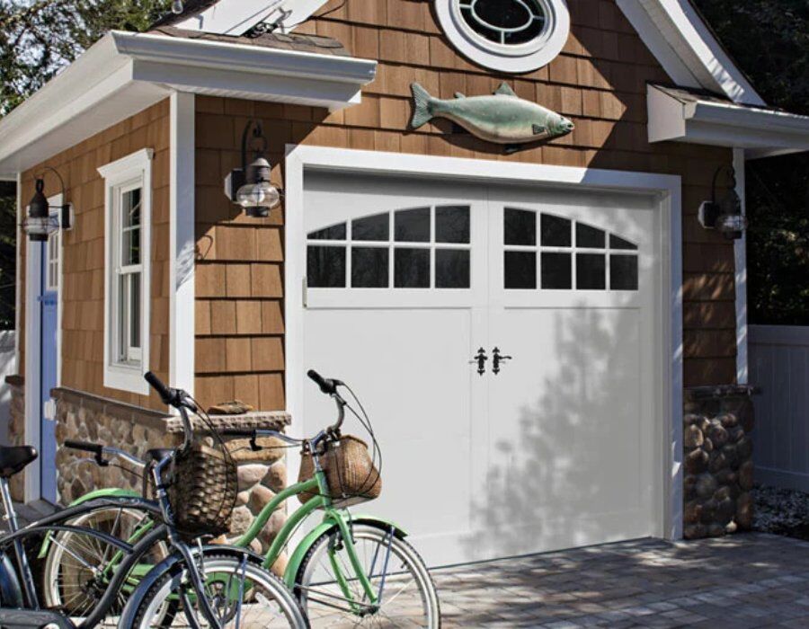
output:
[[[206,596],[222,629],[273,629],[308,627],[298,601],[282,580],[259,563],[232,554],[207,553],[203,563]],[[166,602],[182,600],[173,618],[167,620]],[[209,627],[183,571],[166,573],[149,589],[133,618],[132,629],[191,627],[191,616],[200,627]]]

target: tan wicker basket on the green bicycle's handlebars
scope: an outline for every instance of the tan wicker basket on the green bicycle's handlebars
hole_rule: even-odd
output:
[[[350,507],[372,501],[382,492],[382,477],[374,466],[368,444],[362,439],[343,435],[339,441],[329,443],[320,455],[320,465],[329,484],[329,494],[335,507]],[[298,483],[315,475],[315,461],[310,453],[301,457]],[[301,503],[314,498],[316,493],[299,493]]]

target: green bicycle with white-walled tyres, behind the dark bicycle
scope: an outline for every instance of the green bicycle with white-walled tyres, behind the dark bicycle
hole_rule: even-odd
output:
[[[227,436],[249,438],[254,450],[261,449],[258,439],[275,437],[286,443],[302,447],[313,464],[312,477],[290,485],[278,493],[256,516],[252,525],[233,545],[248,547],[267,524],[273,511],[295,496],[303,504],[289,518],[263,557],[263,566],[270,568],[289,545],[301,523],[316,510],[323,511],[322,521],[310,530],[289,555],[284,580],[294,591],[313,627],[322,626],[406,626],[440,627],[438,594],[421,556],[406,541],[401,527],[385,519],[351,514],[346,504],[362,501],[363,496],[349,497],[330,486],[331,474],[326,474],[321,461],[330,448],[340,447],[342,423],[348,408],[363,425],[370,428],[339,393],[345,386],[340,380],[321,377],[314,370],[307,374],[320,390],[330,395],[337,406],[337,421],[321,430],[312,439],[292,439],[275,430],[227,430]],[[349,389],[350,390],[350,389]],[[354,398],[356,400],[356,397]],[[361,404],[360,410],[361,410]],[[348,438],[351,439],[351,438]],[[117,454],[109,448],[111,454]],[[133,462],[131,456],[127,459]],[[375,471],[375,470],[374,470]],[[332,483],[333,484],[333,483]],[[133,509],[127,502],[134,494],[129,490],[100,490],[77,502],[92,500],[103,495],[107,501],[120,500],[120,506],[106,507],[83,516],[82,526],[99,527],[112,536],[138,539],[156,526],[148,514]],[[308,500],[306,500],[308,498]],[[351,500],[352,498],[352,500]],[[43,591],[49,606],[66,605],[60,584],[74,569],[76,556],[82,562],[98,563],[102,571],[109,571],[111,561],[104,554],[97,557],[87,549],[71,548],[70,537],[55,537],[53,544],[46,540],[40,551],[45,560]],[[159,551],[159,549],[156,549]],[[174,626],[174,625],[172,625]]]

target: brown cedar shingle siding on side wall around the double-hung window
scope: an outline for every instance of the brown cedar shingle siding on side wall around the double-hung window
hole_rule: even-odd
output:
[[[156,394],[130,394],[103,385],[104,357],[104,182],[96,170],[121,157],[152,148],[152,273],[149,368],[168,377],[168,259],[169,259],[169,104],[158,102],[107,128],[84,142],[54,155],[22,174],[22,199],[34,192],[35,176],[43,166],[58,170],[65,180],[66,201],[73,203],[76,226],[63,232],[62,250],[62,382],[68,388],[165,410]],[[45,173],[46,194],[56,194],[59,184]],[[21,243],[22,269],[26,247]],[[22,280],[25,273],[22,273]],[[22,307],[25,306],[22,286]],[[21,313],[24,314],[24,313]],[[21,321],[24,319],[21,319]],[[24,330],[20,334],[24,335]],[[21,339],[20,348],[24,352]],[[18,366],[24,373],[24,354]]]

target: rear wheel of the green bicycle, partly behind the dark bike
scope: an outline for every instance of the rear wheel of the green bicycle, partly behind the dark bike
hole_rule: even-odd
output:
[[[148,522],[150,517],[146,512],[123,507],[103,507],[67,520],[67,524],[93,528],[125,542],[133,541]],[[67,616],[84,617],[102,598],[115,568],[125,555],[97,537],[72,531],[52,532],[49,540],[42,570],[43,602],[46,607],[62,609]],[[110,618],[120,615],[138,579],[167,554],[167,546],[159,542],[143,557],[120,590],[118,600],[110,610]],[[164,612],[168,610],[166,607]],[[108,622],[114,626],[113,620]]]

